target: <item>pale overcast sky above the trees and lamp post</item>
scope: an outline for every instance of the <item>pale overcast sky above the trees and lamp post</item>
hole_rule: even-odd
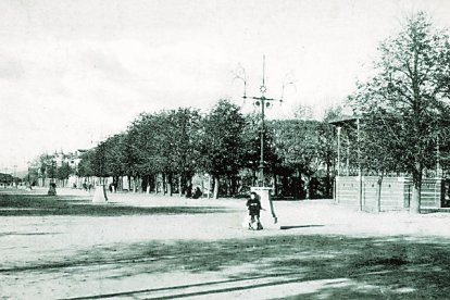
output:
[[[305,104],[320,115],[418,10],[449,27],[446,0],[0,0],[0,172],[89,148],[143,111],[208,111],[224,97],[251,110],[234,72],[258,96],[263,54],[266,96],[296,83],[270,117]]]

